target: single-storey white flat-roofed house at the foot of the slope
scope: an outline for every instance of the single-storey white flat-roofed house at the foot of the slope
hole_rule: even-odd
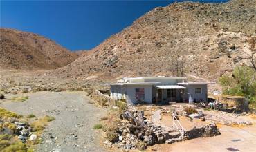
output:
[[[110,86],[111,98],[127,104],[167,104],[207,101],[207,85],[212,82],[185,82],[186,77],[122,78]]]

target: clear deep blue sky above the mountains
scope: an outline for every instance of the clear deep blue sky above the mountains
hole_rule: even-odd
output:
[[[0,26],[43,35],[69,50],[89,50],[145,12],[172,2],[1,0]]]

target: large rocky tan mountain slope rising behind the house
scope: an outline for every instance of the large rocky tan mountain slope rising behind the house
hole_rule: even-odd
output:
[[[188,77],[216,80],[235,66],[250,64],[248,39],[256,35],[256,17],[238,31],[255,14],[255,0],[158,7],[53,74],[106,79],[173,75],[170,67],[181,60]]]

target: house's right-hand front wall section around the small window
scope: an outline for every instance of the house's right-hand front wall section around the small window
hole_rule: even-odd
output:
[[[188,84],[186,87],[186,101],[188,101],[189,95],[192,95],[193,101],[207,101],[207,84]],[[195,93],[196,88],[201,88],[201,93]]]

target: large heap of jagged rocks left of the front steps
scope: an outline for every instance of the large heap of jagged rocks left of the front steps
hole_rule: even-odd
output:
[[[181,134],[175,129],[167,130],[147,120],[141,111],[125,111],[120,116],[122,122],[116,131],[118,137],[112,144],[123,150],[146,149],[149,145],[172,143],[182,140]],[[105,142],[105,144],[111,144]]]

